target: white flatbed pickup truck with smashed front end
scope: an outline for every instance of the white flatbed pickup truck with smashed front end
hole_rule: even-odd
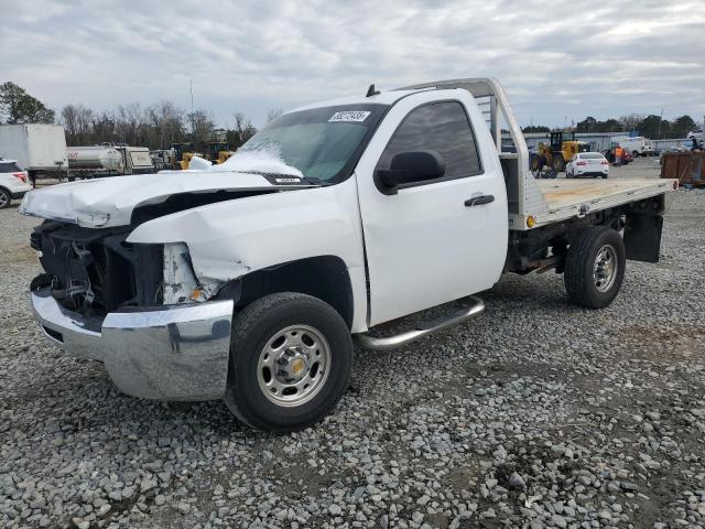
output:
[[[341,397],[354,339],[399,347],[477,316],[471,294],[502,273],[555,269],[575,303],[608,305],[626,259],[659,259],[676,187],[535,181],[502,87],[481,78],[370,87],[284,114],[221,165],[56,185],[21,212],[45,219],[31,296],[48,338],[126,393],[223,398],[289,431]]]

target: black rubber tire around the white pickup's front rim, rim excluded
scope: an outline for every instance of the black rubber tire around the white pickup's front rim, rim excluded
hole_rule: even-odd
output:
[[[329,346],[328,373],[310,400],[300,406],[280,406],[260,388],[260,353],[273,336],[293,325],[312,327],[325,338]],[[330,305],[297,292],[271,294],[248,305],[232,322],[225,401],[236,417],[253,428],[273,432],[300,430],[318,422],[333,409],[348,387],[351,373],[350,331]]]

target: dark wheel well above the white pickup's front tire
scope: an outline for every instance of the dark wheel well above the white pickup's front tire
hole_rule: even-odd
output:
[[[343,259],[317,256],[283,262],[230,281],[219,299],[235,300],[236,312],[253,301],[276,292],[301,292],[328,303],[350,327],[352,325],[352,285]]]

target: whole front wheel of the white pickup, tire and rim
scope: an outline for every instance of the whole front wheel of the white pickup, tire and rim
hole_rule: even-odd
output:
[[[232,322],[225,401],[248,424],[308,427],[338,402],[352,371],[352,339],[327,303],[296,292],[267,295]]]

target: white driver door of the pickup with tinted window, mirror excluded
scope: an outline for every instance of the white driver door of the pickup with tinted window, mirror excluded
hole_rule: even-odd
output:
[[[453,99],[438,100],[443,93]],[[488,152],[480,152],[480,144],[489,145]],[[375,171],[389,169],[394,154],[422,150],[443,158],[445,174],[386,194]],[[469,94],[435,90],[402,99],[380,125],[356,174],[370,326],[486,290],[498,280],[507,255],[505,182]]]

